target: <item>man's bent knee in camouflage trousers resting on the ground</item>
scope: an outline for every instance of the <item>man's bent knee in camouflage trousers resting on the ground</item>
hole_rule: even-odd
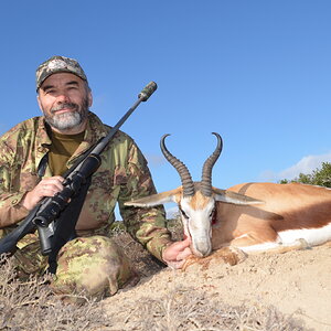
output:
[[[105,236],[66,243],[58,253],[57,265],[51,286],[60,295],[77,292],[102,299],[139,280],[122,249]]]

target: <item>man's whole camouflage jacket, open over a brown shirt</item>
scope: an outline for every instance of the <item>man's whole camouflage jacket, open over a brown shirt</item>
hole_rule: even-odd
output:
[[[67,161],[67,168],[110,129],[93,113],[88,114],[88,119],[85,137]],[[29,214],[21,201],[40,181],[38,168],[51,143],[43,116],[28,119],[0,137],[0,228],[4,232]],[[44,175],[52,177],[49,167]],[[161,259],[162,249],[170,242],[163,207],[124,205],[126,201],[154,192],[146,159],[135,141],[118,131],[103,151],[102,166],[92,178],[76,225],[77,234],[107,235],[115,221],[114,209],[118,202],[128,232]]]

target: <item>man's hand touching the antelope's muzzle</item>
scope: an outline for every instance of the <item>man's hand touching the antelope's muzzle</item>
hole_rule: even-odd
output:
[[[173,269],[180,269],[184,265],[185,258],[192,255],[190,244],[190,237],[182,242],[172,243],[163,250],[163,261]]]

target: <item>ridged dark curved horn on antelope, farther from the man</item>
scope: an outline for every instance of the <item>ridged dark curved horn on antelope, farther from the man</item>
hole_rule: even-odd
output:
[[[212,170],[223,148],[223,141],[221,136],[216,132],[212,132],[212,134],[217,137],[217,147],[203,164],[202,179],[201,179],[201,193],[204,196],[212,195]]]

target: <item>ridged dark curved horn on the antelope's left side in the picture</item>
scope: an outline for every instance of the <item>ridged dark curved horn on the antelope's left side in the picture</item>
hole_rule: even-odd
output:
[[[169,161],[169,163],[178,171],[183,186],[183,195],[184,196],[192,196],[194,195],[194,183],[192,181],[191,174],[186,166],[173,157],[170,151],[167,149],[164,140],[170,135],[162,136],[160,140],[160,148],[164,156],[164,158]]]

